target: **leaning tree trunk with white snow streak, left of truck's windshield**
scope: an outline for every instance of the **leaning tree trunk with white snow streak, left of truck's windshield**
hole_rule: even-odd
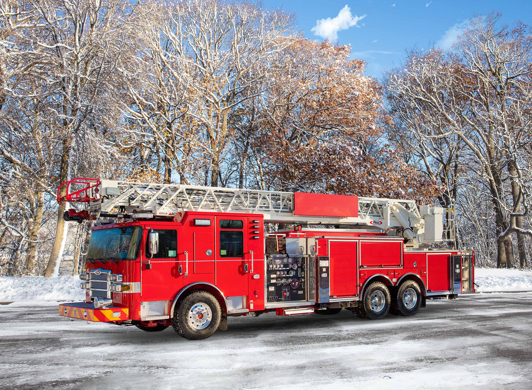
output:
[[[61,156],[61,170],[59,178],[61,182],[68,180],[69,175],[69,154],[70,146],[72,145],[72,135],[69,134],[63,140],[63,154]],[[59,192],[59,196],[66,195],[66,186],[62,186]],[[54,245],[50,252],[50,259],[46,265],[46,271],[44,273],[45,278],[49,278],[54,275],[57,261],[61,262],[61,256],[63,255],[64,242],[66,240],[66,233],[68,233],[68,223],[63,219],[63,214],[66,209],[66,203],[62,202],[57,207],[57,228],[55,232]]]

